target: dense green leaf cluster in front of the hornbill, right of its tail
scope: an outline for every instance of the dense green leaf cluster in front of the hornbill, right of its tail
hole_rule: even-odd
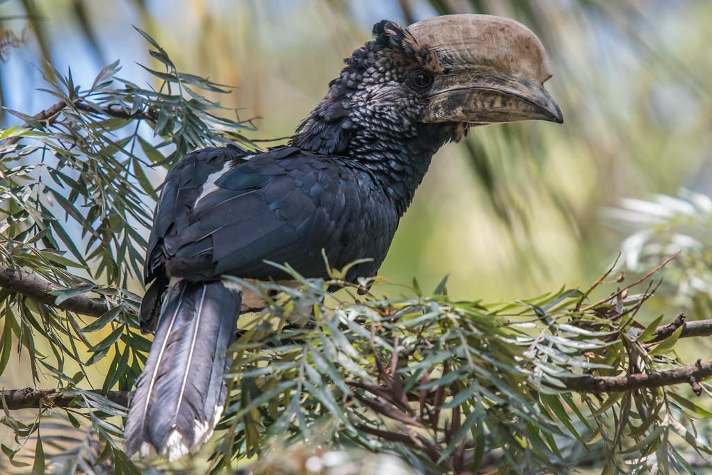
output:
[[[485,462],[566,473],[602,460],[609,473],[695,473],[672,441],[686,440],[702,460],[712,453],[695,425],[707,410],[679,390],[567,388],[572,378],[679,365],[679,332],[649,344],[661,319],[635,322],[649,293],[617,292],[585,307],[585,293],[562,289],[492,306],[415,289],[355,301],[348,291],[329,292],[343,282],[302,281],[300,291],[256,289],[282,297],[232,348],[216,472],[235,457],[303,440],[397,454],[426,473],[476,471]]]

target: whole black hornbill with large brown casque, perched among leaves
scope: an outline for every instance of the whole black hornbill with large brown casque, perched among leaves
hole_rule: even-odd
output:
[[[226,352],[242,289],[261,281],[374,276],[431,157],[473,125],[561,112],[539,39],[511,19],[451,15],[402,28],[379,21],[345,60],[288,145],[209,148],[167,175],[140,310],[155,330],[125,425],[127,454],[177,459],[210,437],[223,409]]]

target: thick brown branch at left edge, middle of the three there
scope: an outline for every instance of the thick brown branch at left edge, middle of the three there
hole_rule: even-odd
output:
[[[0,288],[21,293],[33,301],[45,303],[60,310],[80,313],[81,315],[99,317],[108,310],[105,302],[96,301],[86,296],[71,297],[58,304],[56,303],[57,297],[51,295],[50,292],[65,291],[66,288],[48,282],[31,273],[17,271],[2,265],[0,265]]]

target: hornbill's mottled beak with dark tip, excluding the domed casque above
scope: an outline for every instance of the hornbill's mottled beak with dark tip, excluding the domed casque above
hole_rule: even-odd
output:
[[[542,84],[491,68],[439,75],[421,120],[474,124],[518,120],[549,120],[560,124],[564,121],[559,106]]]

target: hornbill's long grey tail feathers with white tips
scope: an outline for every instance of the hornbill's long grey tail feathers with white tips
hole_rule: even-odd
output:
[[[126,418],[127,454],[174,460],[211,436],[225,402],[223,379],[242,293],[223,281],[178,281],[162,304],[156,336]]]

